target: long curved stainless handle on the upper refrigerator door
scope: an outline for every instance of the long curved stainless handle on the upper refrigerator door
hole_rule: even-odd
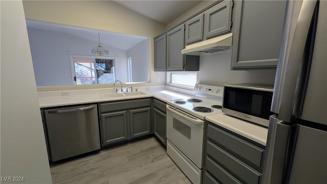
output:
[[[286,122],[291,122],[294,118],[292,114],[298,75],[316,3],[316,1],[287,2],[271,104],[271,111],[278,114],[278,119]],[[298,16],[295,16],[298,9]]]

